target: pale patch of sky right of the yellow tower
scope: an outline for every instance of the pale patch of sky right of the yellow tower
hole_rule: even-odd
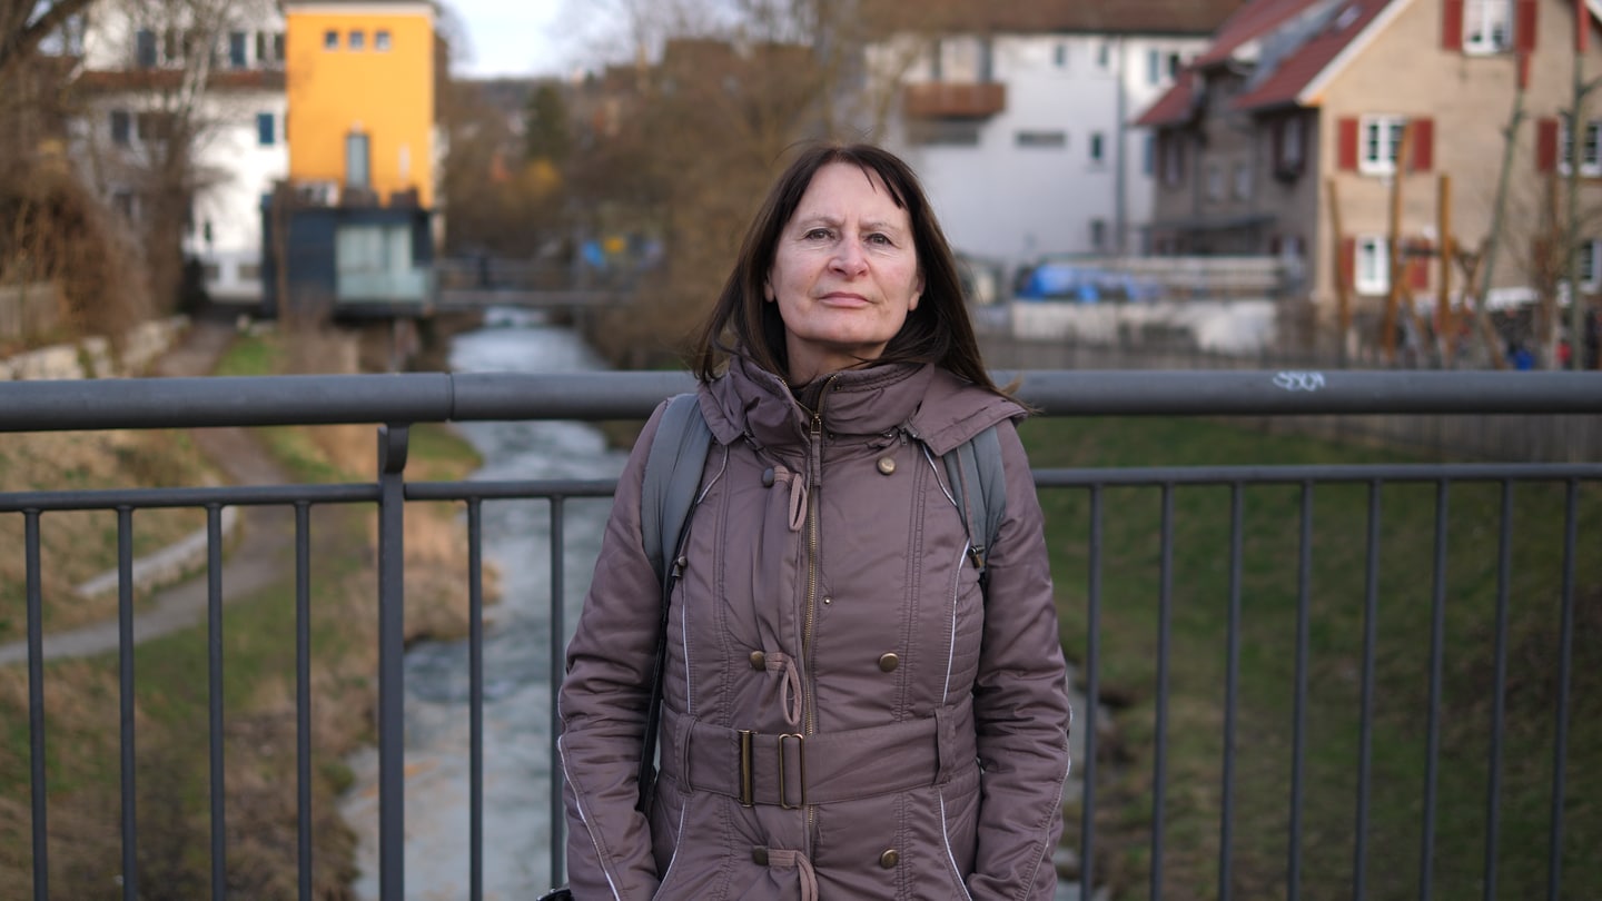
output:
[[[562,38],[564,0],[447,0],[466,27],[471,59],[458,75],[559,75],[578,64],[578,42]],[[570,24],[570,18],[569,24]]]

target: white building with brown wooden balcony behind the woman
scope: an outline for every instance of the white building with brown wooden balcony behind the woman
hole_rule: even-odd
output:
[[[1153,154],[1131,122],[1238,0],[1176,0],[1173,16],[1152,3],[987,6],[976,14],[993,21],[966,34],[868,50],[870,71],[902,83],[884,143],[918,170],[961,253],[1011,269],[1145,252]]]

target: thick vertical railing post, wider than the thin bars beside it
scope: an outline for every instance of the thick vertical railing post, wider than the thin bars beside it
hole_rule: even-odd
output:
[[[378,896],[405,898],[405,457],[378,426]]]

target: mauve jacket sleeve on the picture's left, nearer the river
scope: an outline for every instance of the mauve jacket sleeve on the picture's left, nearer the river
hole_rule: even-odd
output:
[[[646,899],[657,890],[650,827],[636,810],[639,752],[662,614],[662,585],[641,545],[650,415],[618,478],[557,696],[567,808],[567,875],[578,901]]]

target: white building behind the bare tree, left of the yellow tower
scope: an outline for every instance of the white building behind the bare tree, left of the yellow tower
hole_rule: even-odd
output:
[[[135,229],[167,135],[189,123],[184,253],[202,265],[213,300],[260,300],[261,204],[288,173],[277,3],[213,0],[175,11],[103,0],[85,16],[80,85],[90,101],[75,157]]]

